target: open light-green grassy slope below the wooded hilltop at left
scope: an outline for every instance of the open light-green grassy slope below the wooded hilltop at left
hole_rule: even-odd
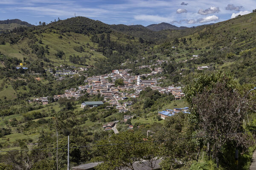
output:
[[[41,35],[37,35],[36,37],[38,40],[42,41],[42,45],[49,46],[49,54],[46,54],[46,57],[49,58],[54,65],[61,65],[61,64],[68,64],[68,65],[75,65],[69,61],[70,55],[76,55],[79,57],[84,57],[85,55],[89,56],[90,59],[87,59],[86,64],[87,65],[93,65],[96,61],[99,59],[105,58],[101,53],[92,51],[90,48],[95,49],[97,48],[97,44],[90,41],[90,37],[70,32],[69,35],[64,34],[61,35],[62,38],[59,38],[61,34],[54,33],[53,31],[50,32],[49,30],[46,30]],[[22,40],[18,42],[18,44],[11,45],[8,42],[6,42],[5,45],[0,45],[0,51],[6,56],[9,57],[17,57],[19,59],[23,59],[23,57],[28,57],[31,59],[36,59],[35,54],[32,54],[32,49],[28,46],[29,39],[24,37]],[[86,45],[89,43],[90,46]],[[75,51],[73,48],[76,46],[83,46],[85,52],[79,53],[78,51]],[[29,50],[29,54],[25,54],[21,49]],[[45,48],[46,49],[46,48]],[[64,51],[65,56],[62,59],[59,59],[55,56],[57,51]],[[79,66],[79,65],[76,65]]]

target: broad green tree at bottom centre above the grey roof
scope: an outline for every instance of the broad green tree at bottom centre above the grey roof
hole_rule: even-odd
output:
[[[100,159],[104,162],[99,164],[96,169],[120,170],[130,168],[134,170],[132,166],[134,162],[138,161],[143,164],[143,160],[146,160],[151,163],[149,167],[153,170],[154,162],[160,156],[161,144],[149,142],[151,141],[150,138],[148,138],[148,142],[142,143],[145,137],[140,131],[125,131],[100,141],[99,145],[109,144],[110,146],[98,147]]]

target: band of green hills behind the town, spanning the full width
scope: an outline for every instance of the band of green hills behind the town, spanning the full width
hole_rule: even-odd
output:
[[[231,61],[221,56],[230,52],[239,56],[242,50],[253,48],[255,15],[251,13],[213,25],[162,31],[152,31],[141,25],[108,25],[86,17],[73,17],[41,26],[18,27],[1,34],[0,52],[7,57],[42,62],[45,68],[94,66],[94,74],[121,68],[125,62],[131,65],[124,67],[134,67],[157,59],[185,60],[192,54],[204,56],[198,59],[204,59],[204,62],[198,64],[219,61],[221,65],[226,62],[230,65],[240,58],[233,57]]]

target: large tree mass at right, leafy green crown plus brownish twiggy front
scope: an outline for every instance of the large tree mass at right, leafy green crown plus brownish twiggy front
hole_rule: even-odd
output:
[[[243,93],[235,90],[229,71],[200,75],[184,92],[191,108],[190,124],[197,136],[205,136],[208,156],[217,161],[230,146],[243,150],[250,146],[248,136],[240,132],[244,131],[245,113],[255,103],[245,102]]]

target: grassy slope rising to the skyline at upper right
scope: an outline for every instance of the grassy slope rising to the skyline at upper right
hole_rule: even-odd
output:
[[[233,45],[238,45],[240,48],[252,48],[250,43],[255,41],[255,37],[246,38],[244,40],[239,40],[240,35],[247,35],[250,32],[256,31],[256,13],[250,13],[247,15],[243,15],[239,18],[233,18],[227,21],[223,21],[220,23],[213,24],[212,26],[204,26],[201,30],[197,30],[193,34],[189,34],[182,38],[186,38],[186,45],[183,45],[181,42],[182,38],[179,38],[179,45],[172,44],[172,41],[167,41],[160,45],[155,45],[154,48],[166,48],[168,49],[172,57],[176,57],[175,61],[185,61],[190,59],[191,55],[200,55],[201,52],[209,51],[213,48],[214,45],[218,45],[219,42],[226,41],[224,46],[219,46],[219,48],[229,48],[233,47]],[[204,34],[203,37],[200,38],[200,34]],[[192,41],[189,41],[189,38]],[[241,39],[241,38],[240,38]],[[172,46],[176,48],[174,51],[171,48]],[[202,48],[201,50],[192,50],[188,51],[185,47],[192,48]],[[209,47],[209,49],[206,49]],[[166,55],[158,54],[161,59],[166,59]],[[180,56],[180,57],[178,57]],[[207,63],[206,65],[215,65],[216,63]],[[197,66],[197,65],[196,65]],[[218,65],[217,65],[218,66]]]

